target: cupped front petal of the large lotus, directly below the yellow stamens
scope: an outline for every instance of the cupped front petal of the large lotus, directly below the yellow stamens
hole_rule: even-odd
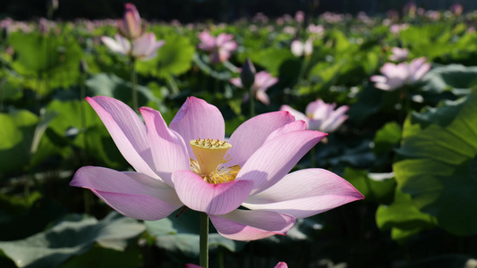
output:
[[[246,180],[212,184],[190,171],[174,172],[172,180],[177,196],[184,205],[207,214],[227,214],[233,211],[249,197],[253,186],[251,181]]]

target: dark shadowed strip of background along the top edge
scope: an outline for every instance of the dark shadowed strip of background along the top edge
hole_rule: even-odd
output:
[[[256,13],[264,13],[269,17],[283,14],[294,14],[305,11],[311,15],[323,12],[368,14],[386,13],[388,10],[402,11],[403,6],[413,2],[427,10],[445,10],[452,4],[459,3],[464,10],[477,9],[473,0],[59,0],[59,9],[55,19],[73,20],[85,18],[89,20],[119,18],[123,14],[125,3],[132,3],[141,11],[141,17],[150,21],[182,22],[223,21],[231,22]],[[0,18],[12,17],[14,20],[28,21],[42,17],[47,13],[46,0],[3,0],[0,3]]]

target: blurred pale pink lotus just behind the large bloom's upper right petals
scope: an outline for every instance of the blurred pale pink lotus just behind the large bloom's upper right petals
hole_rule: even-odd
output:
[[[280,110],[291,113],[296,120],[305,121],[308,130],[331,133],[348,119],[345,113],[348,111],[349,106],[343,105],[336,110],[335,108],[336,104],[328,105],[319,99],[306,106],[306,114],[298,112],[288,105],[282,105]]]

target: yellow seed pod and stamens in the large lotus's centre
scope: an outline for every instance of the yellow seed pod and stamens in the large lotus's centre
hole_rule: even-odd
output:
[[[218,139],[194,139],[189,142],[192,146],[192,152],[194,153],[196,160],[191,159],[191,171],[197,173],[209,183],[223,183],[235,180],[238,172],[240,171],[240,165],[234,165],[231,167],[221,166],[223,163],[227,163],[231,158],[230,155],[226,156],[226,153],[231,144],[226,141]],[[226,156],[226,158],[224,158]]]

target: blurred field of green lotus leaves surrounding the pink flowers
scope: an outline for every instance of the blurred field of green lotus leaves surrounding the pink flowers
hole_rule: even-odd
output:
[[[116,19],[124,3],[60,0],[54,18],[64,21],[43,24],[36,17],[46,15],[44,1],[0,3],[0,17],[29,23],[29,30],[13,28],[1,43],[0,267],[183,267],[197,261],[197,213],[135,221],[112,213],[89,191],[68,186],[83,165],[130,169],[84,101],[104,95],[131,105],[128,59],[99,41],[117,32],[115,21],[68,21]],[[350,106],[343,127],[296,169],[314,163],[336,172],[366,199],[300,220],[285,237],[244,243],[211,230],[214,267],[272,267],[278,261],[290,267],[475,267],[474,1],[460,1],[469,11],[462,16],[444,12],[454,1],[414,1],[442,10],[441,17],[402,15],[393,23],[408,28],[399,33],[384,21],[388,9],[402,13],[403,1],[322,0],[314,7],[314,1],[132,3],[149,20],[148,30],[166,40],[158,57],[136,66],[140,105],[158,109],[166,121],[187,96],[198,96],[217,105],[230,135],[248,118],[246,93],[229,82],[246,58],[279,78],[267,91],[271,104],[258,103],[258,113],[284,104],[304,111],[317,98]],[[309,57],[290,51],[294,39],[313,36],[292,17],[282,24],[234,21],[257,12],[279,17],[298,10],[324,26]],[[327,21],[318,15],[326,11],[379,14]],[[173,19],[204,23],[154,22]],[[239,47],[228,62],[210,63],[198,49],[204,29],[234,35]],[[405,97],[370,81],[388,62],[392,46],[432,64],[419,83],[403,89]],[[79,68],[81,60],[88,68]]]

